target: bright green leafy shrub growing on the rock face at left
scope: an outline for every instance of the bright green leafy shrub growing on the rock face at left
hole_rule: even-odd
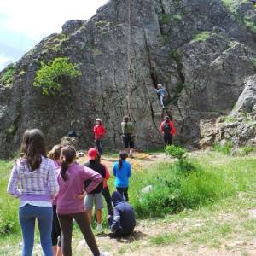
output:
[[[33,85],[41,87],[44,95],[54,96],[56,91],[62,90],[64,79],[73,79],[80,75],[78,67],[73,65],[67,57],[55,58],[48,64],[41,62],[41,68],[36,73]]]

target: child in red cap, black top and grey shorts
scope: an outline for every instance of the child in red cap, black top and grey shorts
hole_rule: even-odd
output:
[[[89,162],[84,164],[84,166],[89,167],[90,169],[99,173],[102,178],[106,178],[106,169],[100,163],[100,155],[96,148],[90,148],[88,151],[88,160]],[[85,189],[90,185],[90,180],[85,181],[84,186]],[[103,209],[103,201],[102,201],[102,189],[103,183],[99,183],[95,189],[91,192],[88,192],[85,197],[85,209],[88,214],[89,221],[91,222],[92,216],[92,207],[93,202],[95,203],[96,208],[96,222],[97,222],[97,232],[102,233],[102,209]]]

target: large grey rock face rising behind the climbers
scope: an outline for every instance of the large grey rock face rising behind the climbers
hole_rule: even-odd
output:
[[[230,113],[255,74],[255,17],[252,3],[230,11],[221,0],[112,0],[90,20],[68,21],[15,63],[10,84],[0,85],[0,155],[14,152],[32,127],[44,131],[49,146],[74,130],[82,134],[80,147],[88,147],[96,117],[108,129],[105,148],[119,148],[127,113],[139,148],[161,146],[166,114],[178,142],[198,145],[204,120]],[[63,56],[82,76],[55,96],[42,95],[32,86],[40,62]],[[167,91],[164,113],[157,83]]]

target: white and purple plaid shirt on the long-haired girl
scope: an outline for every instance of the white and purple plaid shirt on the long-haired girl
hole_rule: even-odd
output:
[[[20,201],[51,201],[59,190],[57,172],[53,160],[41,157],[40,167],[33,172],[26,159],[15,162],[7,188],[10,195],[19,197]]]

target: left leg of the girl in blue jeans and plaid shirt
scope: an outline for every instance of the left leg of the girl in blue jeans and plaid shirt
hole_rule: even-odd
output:
[[[22,256],[32,256],[34,246],[35,220],[32,206],[19,208],[19,219],[22,230]]]

